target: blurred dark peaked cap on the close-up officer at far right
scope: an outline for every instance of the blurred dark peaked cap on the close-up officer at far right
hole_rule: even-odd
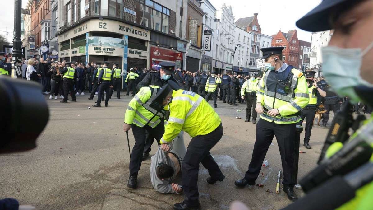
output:
[[[351,9],[361,0],[323,0],[317,7],[304,15],[295,24],[305,31],[326,31],[333,28],[331,15]],[[338,11],[337,11],[338,10]],[[342,11],[341,11],[342,10]]]

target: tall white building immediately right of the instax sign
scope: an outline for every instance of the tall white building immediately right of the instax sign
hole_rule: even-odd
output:
[[[218,30],[213,36],[213,72],[225,74],[232,72],[232,57],[234,52],[234,17],[232,7],[223,4],[216,10],[215,19],[219,19]]]

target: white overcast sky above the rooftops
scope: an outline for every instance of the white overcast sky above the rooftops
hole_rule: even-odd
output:
[[[0,25],[0,34],[6,35],[3,31],[7,30],[9,32],[7,39],[9,42],[12,42],[14,28],[14,0],[6,1],[9,2],[10,6],[7,7],[8,9],[1,10],[0,19],[3,21]],[[22,0],[22,8],[26,7],[27,1],[28,0]],[[226,3],[227,5],[231,4],[235,21],[239,18],[253,16],[253,13],[258,13],[258,21],[261,27],[261,33],[263,34],[277,34],[280,28],[282,32],[296,29],[298,39],[304,41],[311,41],[311,33],[297,28],[295,22],[317,6],[320,1],[321,0],[210,0],[211,4],[213,4],[216,9],[220,9],[223,3]]]

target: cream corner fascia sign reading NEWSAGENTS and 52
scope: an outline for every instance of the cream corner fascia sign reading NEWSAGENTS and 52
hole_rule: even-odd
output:
[[[66,31],[65,33],[58,35],[58,41],[59,43],[61,43],[65,40],[69,40],[70,38],[80,36],[90,31],[118,33],[150,41],[150,31],[146,29],[138,28],[133,25],[128,25],[119,21],[100,21],[100,19],[91,19]]]

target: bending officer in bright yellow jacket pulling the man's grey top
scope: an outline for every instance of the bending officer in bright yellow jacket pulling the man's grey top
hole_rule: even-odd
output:
[[[169,151],[172,140],[181,130],[192,137],[188,145],[181,168],[182,186],[184,188],[184,201],[173,206],[173,209],[200,209],[198,194],[198,169],[200,163],[209,170],[211,177],[207,183],[222,182],[225,178],[214,158],[210,154],[223,136],[223,126],[219,115],[200,95],[187,90],[179,89],[173,81],[169,81],[170,91],[164,97],[164,109],[167,124],[164,126],[164,135],[160,140],[161,148]],[[167,116],[168,119],[167,119]]]

